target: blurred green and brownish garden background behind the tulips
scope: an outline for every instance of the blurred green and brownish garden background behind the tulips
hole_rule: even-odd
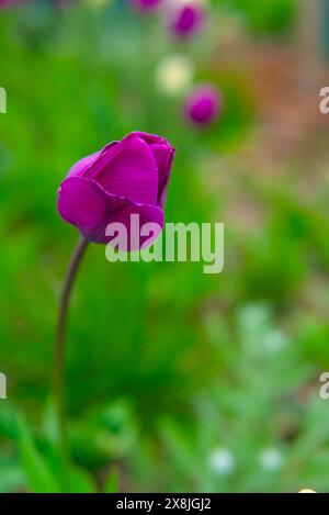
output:
[[[183,43],[123,0],[27,3],[0,11],[0,491],[58,491],[54,327],[78,234],[57,188],[138,130],[178,150],[167,221],[224,222],[226,266],[111,265],[89,248],[67,335],[66,490],[329,492],[320,0],[207,2],[207,30]],[[224,94],[206,128],[157,80],[177,54]]]

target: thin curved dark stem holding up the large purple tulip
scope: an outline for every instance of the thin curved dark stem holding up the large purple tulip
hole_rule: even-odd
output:
[[[81,237],[72,254],[67,273],[64,280],[64,287],[60,296],[59,315],[56,329],[55,342],[55,394],[57,402],[57,417],[59,430],[59,444],[63,458],[67,457],[67,436],[66,436],[66,405],[65,405],[65,373],[64,373],[64,358],[65,358],[65,332],[68,316],[68,307],[72,287],[77,276],[79,265],[88,246],[88,240]]]

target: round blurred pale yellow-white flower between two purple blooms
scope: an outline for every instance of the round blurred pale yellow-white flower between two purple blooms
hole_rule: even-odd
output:
[[[156,83],[167,94],[184,93],[193,80],[193,63],[183,55],[171,55],[158,65]]]

